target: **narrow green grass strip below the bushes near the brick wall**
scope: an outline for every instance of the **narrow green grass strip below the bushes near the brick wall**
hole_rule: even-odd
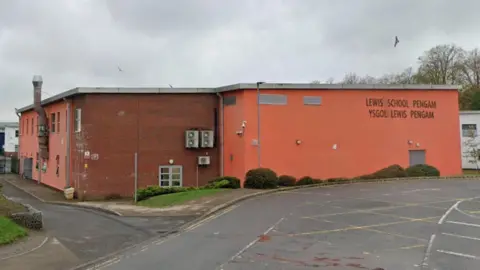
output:
[[[140,201],[137,205],[147,207],[166,207],[181,204],[187,201],[196,200],[215,193],[225,192],[230,189],[199,189],[172,194],[159,195]]]

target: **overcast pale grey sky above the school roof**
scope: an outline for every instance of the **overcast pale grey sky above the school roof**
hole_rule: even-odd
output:
[[[478,10],[478,0],[1,0],[0,121],[33,102],[34,74],[47,98],[400,72],[438,44],[480,46]]]

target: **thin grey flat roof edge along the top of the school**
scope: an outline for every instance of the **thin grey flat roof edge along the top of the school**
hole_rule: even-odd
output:
[[[42,105],[57,102],[80,94],[195,94],[222,93],[235,90],[256,89],[256,83],[237,83],[217,88],[155,88],[155,87],[77,87],[42,100]],[[315,83],[263,83],[260,89],[289,90],[458,90],[457,85],[433,84],[315,84]],[[33,109],[33,104],[16,109],[22,113]]]

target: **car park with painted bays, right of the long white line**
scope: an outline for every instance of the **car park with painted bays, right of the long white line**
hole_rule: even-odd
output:
[[[293,211],[223,269],[480,269],[479,191],[427,180],[285,192]]]

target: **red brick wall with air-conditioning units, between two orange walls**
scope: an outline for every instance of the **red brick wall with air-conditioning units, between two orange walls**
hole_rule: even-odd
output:
[[[184,186],[196,185],[199,155],[211,156],[212,163],[198,168],[199,184],[219,175],[217,148],[184,147],[186,129],[215,130],[214,94],[90,94],[76,97],[74,107],[82,108],[82,132],[73,135],[72,181],[80,179],[77,189],[87,198],[132,196],[135,152],[139,187],[158,185],[159,166],[170,159],[183,166]],[[99,160],[84,160],[82,145]]]

